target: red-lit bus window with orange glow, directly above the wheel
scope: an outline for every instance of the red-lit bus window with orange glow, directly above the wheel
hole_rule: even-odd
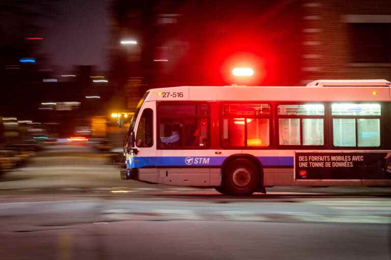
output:
[[[267,147],[270,145],[269,104],[223,104],[222,146]]]

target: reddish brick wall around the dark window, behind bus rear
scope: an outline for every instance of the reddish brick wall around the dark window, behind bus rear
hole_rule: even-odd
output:
[[[351,23],[346,15],[370,20],[391,19],[391,1],[302,1],[303,5],[303,79],[387,79],[391,63],[354,63]],[[384,31],[384,34],[389,34]]]

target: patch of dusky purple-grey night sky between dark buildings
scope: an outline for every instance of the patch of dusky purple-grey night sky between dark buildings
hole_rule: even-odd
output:
[[[43,25],[45,51],[52,64],[64,70],[74,65],[108,69],[107,5],[106,0],[62,0],[54,4],[59,15]]]

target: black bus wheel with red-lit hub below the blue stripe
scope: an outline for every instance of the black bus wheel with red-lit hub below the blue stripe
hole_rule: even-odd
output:
[[[250,195],[257,189],[259,178],[257,168],[251,161],[236,159],[225,167],[222,186],[232,195]]]

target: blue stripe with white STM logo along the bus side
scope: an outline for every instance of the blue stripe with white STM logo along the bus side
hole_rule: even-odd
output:
[[[227,156],[151,156],[133,157],[127,160],[127,168],[159,167],[159,166],[188,166],[208,167],[221,166]],[[293,166],[293,156],[258,156],[263,166]]]

